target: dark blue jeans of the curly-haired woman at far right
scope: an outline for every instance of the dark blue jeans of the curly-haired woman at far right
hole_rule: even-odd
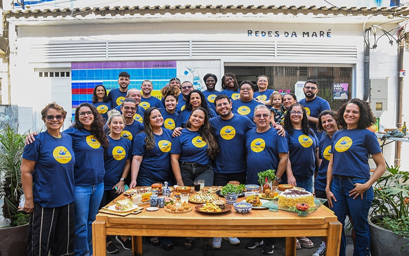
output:
[[[335,215],[338,221],[345,226],[345,217],[348,213],[348,208],[353,221],[353,228],[356,233],[356,241],[354,248],[354,256],[369,255],[371,236],[369,232],[368,213],[371,207],[372,199],[374,198],[374,190],[372,186],[363,193],[363,199],[358,196],[349,197],[349,191],[355,188],[355,183],[365,183],[368,179],[340,179],[338,176],[333,176],[331,192],[336,198],[336,202],[332,201]],[[342,230],[341,248],[339,256],[345,256],[346,242],[344,228]]]

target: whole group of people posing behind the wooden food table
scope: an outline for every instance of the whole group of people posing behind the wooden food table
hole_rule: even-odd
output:
[[[151,95],[151,81],[143,81],[141,90],[128,90],[129,81],[122,72],[119,89],[107,94],[104,86],[96,86],[93,103],[81,103],[73,125],[63,132],[67,113],[60,105],[53,102],[41,111],[47,130],[27,137],[21,162],[23,209],[31,213],[29,255],[92,255],[91,224],[125,184],[193,186],[199,179],[205,186],[232,180],[257,184],[257,173],[266,169],[276,170],[273,185],[292,184],[311,193],[315,187],[316,197],[328,199],[341,223],[349,215],[356,233],[354,255],[369,255],[372,184],[385,163],[376,136],[366,129],[375,122],[366,102],[352,99],[337,113],[331,111],[317,96],[315,80],[305,82],[300,102],[292,93],[267,89],[266,76],[259,76],[257,85],[239,84],[226,73],[221,92],[215,90],[214,74],[203,78],[205,91],[172,78],[161,90],[162,100]],[[372,177],[369,155],[377,165]],[[202,238],[205,255],[213,255],[223,239],[240,244],[235,237]],[[131,249],[129,237],[116,240]],[[153,237],[150,243],[173,248],[170,237]],[[187,238],[184,249],[194,243]],[[271,254],[275,239],[253,238],[245,247],[260,245]],[[118,251],[109,237],[106,246],[109,253]],[[301,246],[314,244],[300,237]],[[340,255],[345,247],[343,233]],[[325,249],[323,238],[313,255],[325,255]]]

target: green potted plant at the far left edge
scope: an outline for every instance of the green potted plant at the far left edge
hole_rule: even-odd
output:
[[[13,248],[13,255],[27,254],[27,229],[29,215],[18,212],[22,195],[21,156],[25,136],[19,135],[10,125],[0,132],[0,199],[4,200],[3,215],[10,219],[10,227],[0,232],[0,255],[7,255]]]

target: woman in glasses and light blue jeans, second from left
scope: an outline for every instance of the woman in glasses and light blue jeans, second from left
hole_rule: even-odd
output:
[[[103,125],[103,118],[95,106],[81,103],[75,110],[74,124],[63,132],[71,136],[76,156],[75,255],[93,254],[92,223],[104,193],[104,152],[109,146]],[[34,141],[34,134],[27,136],[27,143]]]

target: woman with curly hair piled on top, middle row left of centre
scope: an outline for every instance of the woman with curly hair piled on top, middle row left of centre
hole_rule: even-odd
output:
[[[162,99],[165,104],[164,109],[159,109],[162,113],[162,127],[173,131],[179,114],[176,112],[180,89],[176,86],[165,86],[161,89]]]

